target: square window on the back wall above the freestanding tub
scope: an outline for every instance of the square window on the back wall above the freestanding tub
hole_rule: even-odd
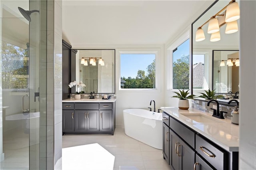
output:
[[[120,53],[121,89],[156,88],[156,53]]]

